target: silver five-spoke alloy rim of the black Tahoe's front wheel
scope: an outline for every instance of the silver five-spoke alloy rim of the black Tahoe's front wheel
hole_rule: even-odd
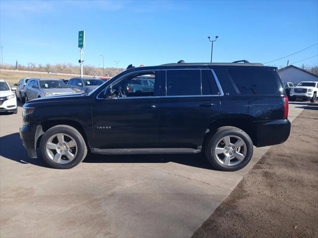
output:
[[[55,134],[46,143],[47,156],[60,164],[71,162],[76,157],[77,152],[76,141],[67,134]]]

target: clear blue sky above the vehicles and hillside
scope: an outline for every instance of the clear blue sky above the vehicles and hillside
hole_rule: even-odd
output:
[[[247,59],[265,63],[318,42],[318,1],[12,1],[0,0],[0,45],[7,64],[106,67]],[[318,55],[318,45],[270,65]],[[296,63],[318,65],[318,57]]]

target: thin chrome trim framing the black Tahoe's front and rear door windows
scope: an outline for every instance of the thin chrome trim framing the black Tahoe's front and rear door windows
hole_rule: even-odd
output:
[[[201,95],[171,95],[171,96],[167,96],[166,93],[167,93],[167,80],[166,80],[166,75],[167,75],[167,71],[168,70],[200,70],[200,81],[201,81]],[[219,89],[219,94],[209,94],[209,95],[202,95],[202,70],[211,70],[212,71],[212,75],[213,75],[213,78],[217,84],[217,87]],[[129,75],[134,75],[136,73],[141,73],[141,72],[155,72],[156,71],[162,71],[162,70],[141,70],[141,71],[135,71],[135,72],[131,72],[131,73],[128,73],[126,75],[123,75],[122,77],[120,77],[119,79],[117,79],[116,81],[112,82],[110,85],[108,85],[107,87],[109,86],[112,86],[113,84],[117,83],[119,80],[129,76]],[[214,70],[213,69],[165,69],[165,96],[140,96],[140,97],[112,97],[112,98],[104,98],[104,97],[99,97],[99,95],[107,88],[105,87],[100,93],[97,94],[96,96],[96,99],[99,99],[99,100],[105,100],[105,99],[143,99],[143,98],[173,98],[173,97],[216,97],[216,96],[224,96],[224,93],[223,93],[223,90],[222,90],[222,87],[221,87],[221,84],[220,84],[220,81],[217,77],[217,75],[215,74]]]

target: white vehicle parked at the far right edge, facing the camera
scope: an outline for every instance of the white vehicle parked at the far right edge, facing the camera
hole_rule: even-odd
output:
[[[310,100],[311,102],[316,102],[318,92],[318,82],[317,81],[302,81],[297,84],[296,87],[292,88],[290,91],[290,100],[294,101],[297,98],[305,100]]]

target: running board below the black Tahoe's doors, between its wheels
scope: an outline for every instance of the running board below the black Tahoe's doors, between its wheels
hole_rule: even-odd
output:
[[[98,149],[90,148],[91,153],[101,155],[134,155],[134,154],[197,154],[198,149],[191,148],[138,148],[138,149]]]

